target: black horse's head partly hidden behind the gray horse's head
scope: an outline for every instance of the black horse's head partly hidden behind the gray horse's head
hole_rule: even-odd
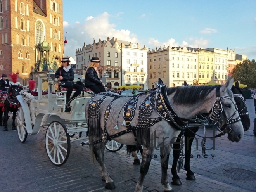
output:
[[[235,86],[232,86],[231,90],[233,92],[235,103],[237,104],[238,113],[242,119],[241,121],[244,127],[244,131],[247,131],[251,124],[247,111],[246,100],[244,99],[244,94],[240,90],[238,82],[235,83]]]

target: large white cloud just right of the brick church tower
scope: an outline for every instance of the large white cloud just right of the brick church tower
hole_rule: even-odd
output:
[[[98,42],[106,40],[107,37],[115,37],[119,40],[139,43],[137,35],[131,33],[128,29],[116,29],[116,25],[109,23],[110,15],[104,12],[96,17],[87,17],[81,23],[75,23],[73,26],[65,25],[64,33],[67,31],[67,55],[74,57],[76,49],[83,47],[85,42],[87,45],[93,43],[93,39]]]

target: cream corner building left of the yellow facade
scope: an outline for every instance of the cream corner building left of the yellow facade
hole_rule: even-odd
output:
[[[163,47],[149,50],[149,87],[161,78],[169,87],[198,83],[198,54],[191,47]]]

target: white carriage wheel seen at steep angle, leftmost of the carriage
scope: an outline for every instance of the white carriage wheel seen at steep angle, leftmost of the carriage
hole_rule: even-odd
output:
[[[27,139],[28,132],[26,129],[25,117],[22,107],[19,107],[18,115],[17,115],[17,129],[19,140],[24,143]]]

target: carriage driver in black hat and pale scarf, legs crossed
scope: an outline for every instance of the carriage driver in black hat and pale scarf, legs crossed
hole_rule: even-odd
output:
[[[81,94],[83,87],[78,84],[74,84],[74,70],[72,67],[69,66],[69,59],[68,58],[62,58],[61,64],[62,66],[57,69],[55,72],[55,78],[58,78],[58,80],[61,81],[62,86],[67,88],[67,95],[66,95],[66,104],[70,101],[70,96],[73,91],[73,88],[76,89],[76,92],[74,92],[74,95],[71,99],[77,97]],[[70,112],[70,107],[66,106],[65,112]]]

